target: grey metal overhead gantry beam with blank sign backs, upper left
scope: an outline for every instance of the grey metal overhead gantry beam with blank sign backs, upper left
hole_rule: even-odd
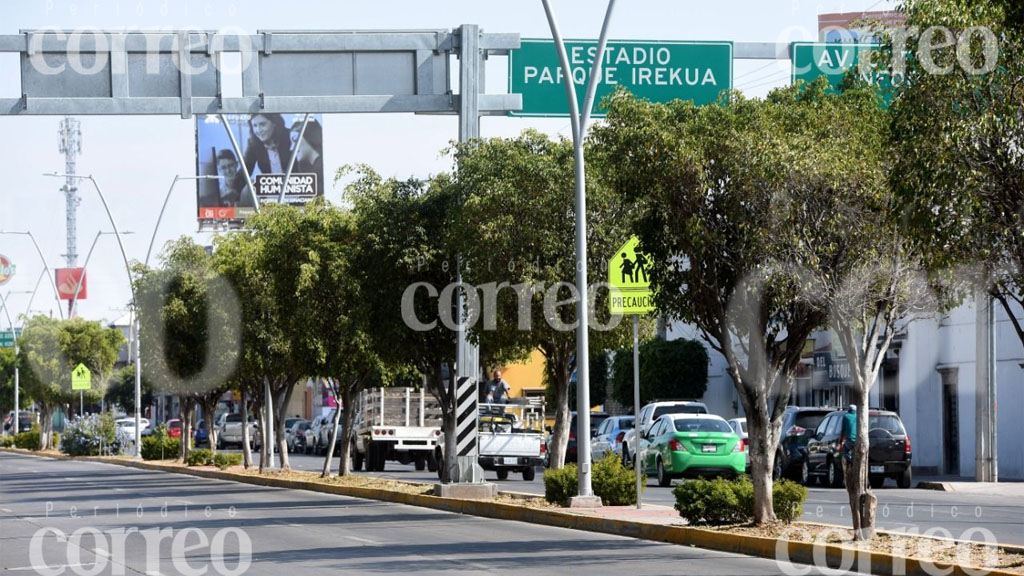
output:
[[[454,31],[216,32],[24,31],[0,35],[20,55],[20,97],[0,115],[180,115],[460,112],[451,88]],[[518,34],[479,34],[505,54]],[[239,54],[242,95],[224,97],[224,54]],[[521,108],[518,94],[463,90],[481,115]]]

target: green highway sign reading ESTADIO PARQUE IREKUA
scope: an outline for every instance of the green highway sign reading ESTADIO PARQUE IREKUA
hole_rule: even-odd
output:
[[[565,42],[581,106],[597,53],[597,42]],[[553,40],[522,40],[509,55],[509,92],[522,94],[513,116],[567,117],[568,101]],[[605,47],[594,116],[603,116],[601,98],[618,86],[656,102],[674,99],[707,105],[732,89],[732,42],[609,41]]]

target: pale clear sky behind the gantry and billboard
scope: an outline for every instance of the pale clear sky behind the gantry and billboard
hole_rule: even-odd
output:
[[[596,38],[604,2],[552,0],[562,33],[567,38]],[[888,9],[892,0],[617,0],[611,38],[650,40],[812,40],[817,14],[823,12]],[[524,38],[549,38],[541,0],[495,2],[489,0],[375,0],[373,2],[293,0],[3,0],[0,34],[41,28],[230,29],[257,30],[408,30],[452,29],[461,24],[480,25],[485,32],[519,33]],[[765,68],[764,61],[737,61],[735,85],[750,95],[788,82],[788,63]],[[0,97],[16,97],[16,55],[0,55]],[[493,58],[487,69],[487,89],[507,91],[507,63]],[[119,228],[126,237],[129,259],[141,260],[153,234],[160,206],[175,174],[195,173],[195,135],[191,120],[177,117],[80,117],[83,153],[80,174],[92,174],[103,188]],[[0,152],[0,230],[31,230],[51,266],[62,266],[66,252],[62,180],[44,172],[62,172],[57,152],[59,117],[0,117],[3,152]],[[508,136],[534,127],[549,134],[568,136],[567,120],[483,118],[483,136]],[[458,135],[455,117],[414,115],[333,115],[325,119],[325,168],[367,163],[382,174],[426,176],[445,170],[441,149]],[[83,263],[96,232],[110,224],[94,191],[81,190],[78,252]],[[340,192],[328,189],[338,201]],[[161,222],[158,247],[183,234],[209,243],[211,235],[197,234],[196,194],[190,182],[179,184]],[[16,276],[0,293],[32,290],[42,264],[28,238],[0,236],[0,254],[17,265]],[[45,282],[45,281],[44,281]],[[79,314],[95,320],[114,320],[130,299],[128,279],[112,236],[99,239],[89,262],[89,297]],[[11,311],[25,312],[28,294],[10,296]],[[52,292],[40,288],[33,310],[56,316]],[[12,314],[13,316],[13,314]],[[0,316],[0,318],[3,318]],[[6,319],[0,320],[6,328]]]

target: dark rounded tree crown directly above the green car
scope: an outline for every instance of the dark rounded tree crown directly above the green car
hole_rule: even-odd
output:
[[[654,400],[699,399],[708,389],[708,351],[696,340],[655,338],[640,344],[640,405]],[[633,406],[633,348],[615,353],[615,402]]]

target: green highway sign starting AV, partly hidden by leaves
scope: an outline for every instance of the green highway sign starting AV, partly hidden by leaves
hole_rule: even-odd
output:
[[[821,76],[828,78],[833,88],[839,88],[847,71],[859,68],[868,53],[879,49],[878,44],[843,44],[822,42],[793,43],[793,83],[798,80],[810,83]],[[892,100],[892,78],[888,73],[871,66],[857,71],[861,77],[882,90],[886,106]]]

